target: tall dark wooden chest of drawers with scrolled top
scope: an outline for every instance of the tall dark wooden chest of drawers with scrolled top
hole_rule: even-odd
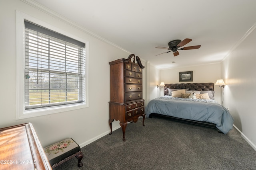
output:
[[[131,54],[128,59],[118,59],[110,64],[110,102],[109,126],[112,134],[112,122],[120,121],[125,141],[127,123],[137,122],[143,117],[144,126],[144,99],[142,99],[142,65],[140,58]]]

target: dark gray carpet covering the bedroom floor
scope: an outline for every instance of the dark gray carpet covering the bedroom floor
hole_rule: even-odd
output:
[[[119,128],[82,148],[76,158],[54,170],[256,170],[256,151],[233,127],[216,129],[153,117],[129,123],[126,141]]]

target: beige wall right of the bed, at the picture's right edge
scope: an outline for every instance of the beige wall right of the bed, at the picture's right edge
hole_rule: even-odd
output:
[[[256,25],[236,44],[221,64],[221,75],[227,84],[224,106],[230,108],[234,125],[256,150]]]

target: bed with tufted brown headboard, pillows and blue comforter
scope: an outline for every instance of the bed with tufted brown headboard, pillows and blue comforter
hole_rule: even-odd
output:
[[[192,92],[197,99],[188,98]],[[214,93],[214,83],[165,84],[164,96],[150,100],[146,106],[146,117],[168,117],[227,134],[233,128],[234,119],[214,100]]]

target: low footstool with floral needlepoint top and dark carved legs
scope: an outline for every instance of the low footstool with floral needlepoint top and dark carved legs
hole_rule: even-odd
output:
[[[78,167],[83,166],[81,160],[84,154],[81,152],[79,145],[72,138],[68,138],[45,147],[44,152],[52,168],[70,160],[74,156],[78,158]]]

